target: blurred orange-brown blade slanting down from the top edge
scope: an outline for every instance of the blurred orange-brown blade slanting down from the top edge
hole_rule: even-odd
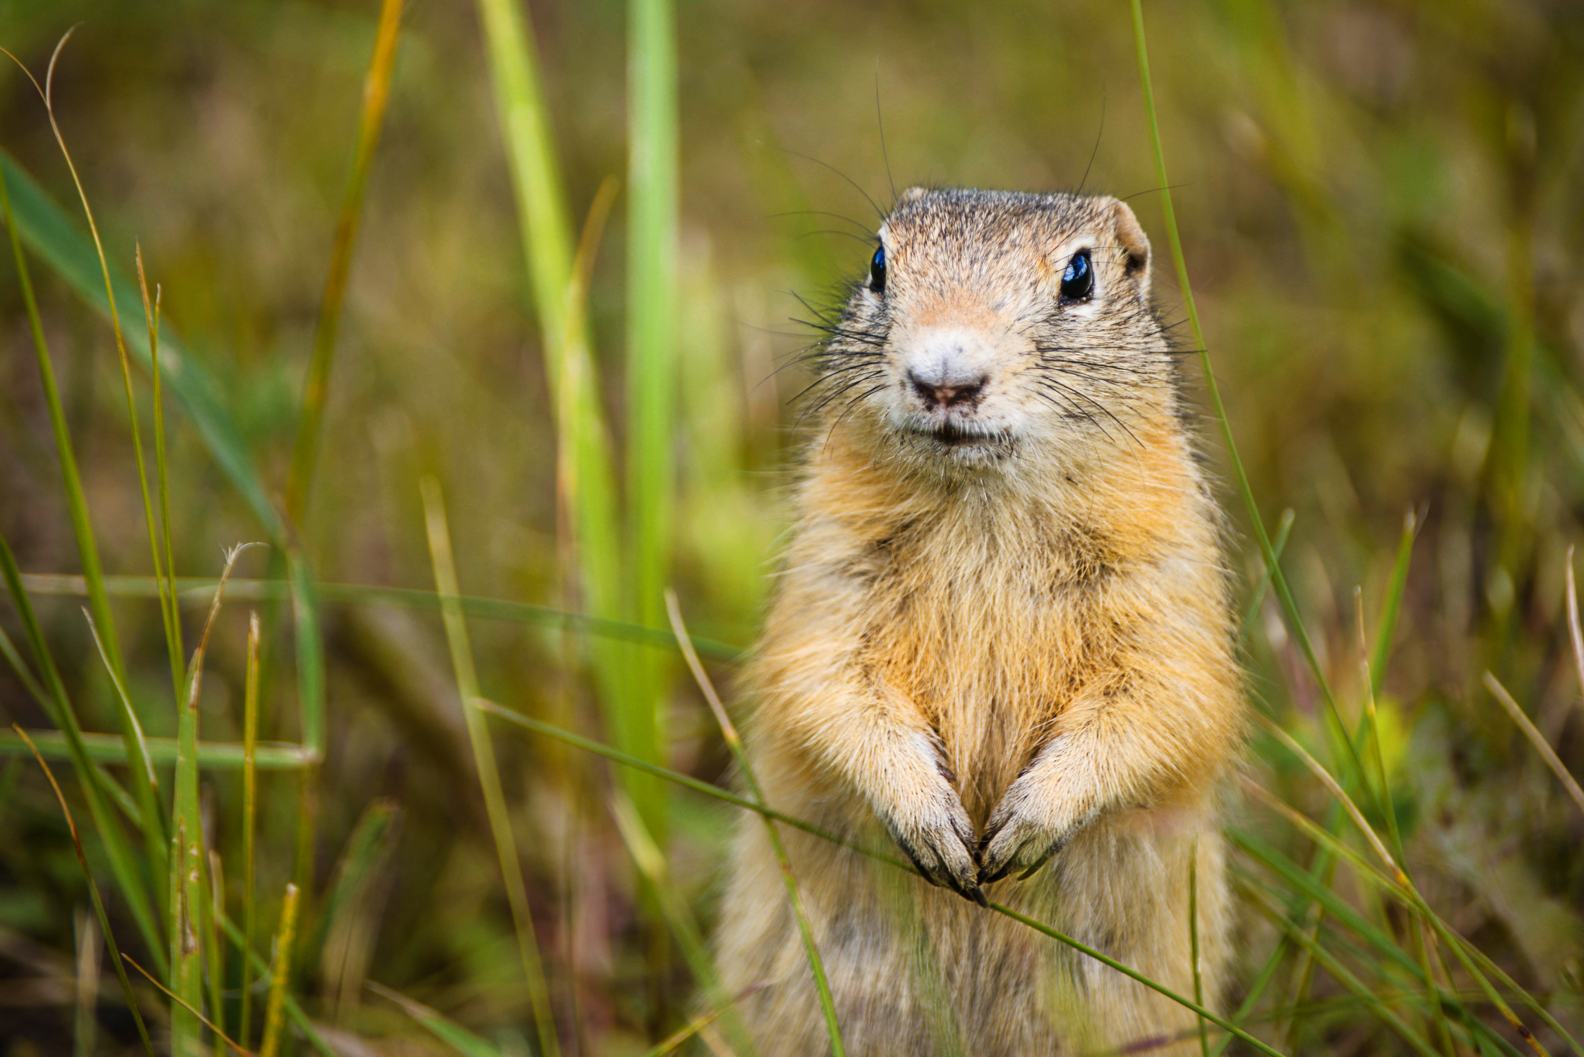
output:
[[[363,193],[369,184],[369,168],[380,142],[380,130],[385,127],[385,106],[390,101],[396,41],[401,33],[401,8],[402,0],[382,0],[380,3],[374,57],[369,60],[369,73],[363,79],[358,146],[352,155],[352,176],[347,179],[347,191],[341,199],[341,215],[336,218],[336,241],[331,244],[329,274],[325,277],[325,294],[318,307],[318,328],[314,331],[314,353],[309,359],[307,378],[303,383],[303,416],[298,419],[296,448],[291,453],[291,472],[285,492],[287,517],[299,525],[314,487],[314,464],[318,459],[325,397],[329,392],[329,367],[336,356],[341,305],[347,297],[352,250],[356,245],[358,222],[363,217]]]

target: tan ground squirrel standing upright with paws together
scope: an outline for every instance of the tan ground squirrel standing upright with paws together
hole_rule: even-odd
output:
[[[1198,847],[1207,1002],[1221,986],[1217,799],[1242,706],[1148,239],[1114,198],[914,188],[878,242],[817,350],[797,525],[748,671],[770,804],[895,840],[927,878],[782,828],[846,1049],[1177,1052],[1182,1006],[976,905],[1193,994]],[[768,983],[740,1006],[760,1054],[827,1052],[757,820],[718,953],[730,992]]]

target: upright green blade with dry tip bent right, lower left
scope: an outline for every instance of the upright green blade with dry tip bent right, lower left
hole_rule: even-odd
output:
[[[171,1010],[173,1057],[196,1057],[203,1051],[198,1017],[187,1008],[203,1005],[203,907],[208,892],[203,885],[203,818],[198,802],[198,695],[203,688],[203,663],[209,649],[220,603],[225,600],[225,582],[236,568],[236,560],[250,546],[231,547],[225,555],[220,584],[215,587],[209,617],[204,620],[198,647],[187,665],[187,693],[176,725],[176,774],[174,809],[171,812],[169,856],[169,989],[181,1003]]]

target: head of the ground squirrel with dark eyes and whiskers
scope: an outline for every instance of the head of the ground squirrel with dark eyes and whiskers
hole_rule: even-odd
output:
[[[1174,403],[1148,269],[1115,198],[908,190],[821,347],[821,407],[942,470],[1133,443]]]

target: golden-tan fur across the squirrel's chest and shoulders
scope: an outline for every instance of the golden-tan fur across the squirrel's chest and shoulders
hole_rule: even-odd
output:
[[[752,671],[779,707],[855,665],[914,701],[982,824],[1077,695],[1159,666],[1152,636],[1207,630],[1178,663],[1228,682],[1210,506],[1177,430],[1106,468],[1047,467],[1038,489],[898,479],[833,434]]]

